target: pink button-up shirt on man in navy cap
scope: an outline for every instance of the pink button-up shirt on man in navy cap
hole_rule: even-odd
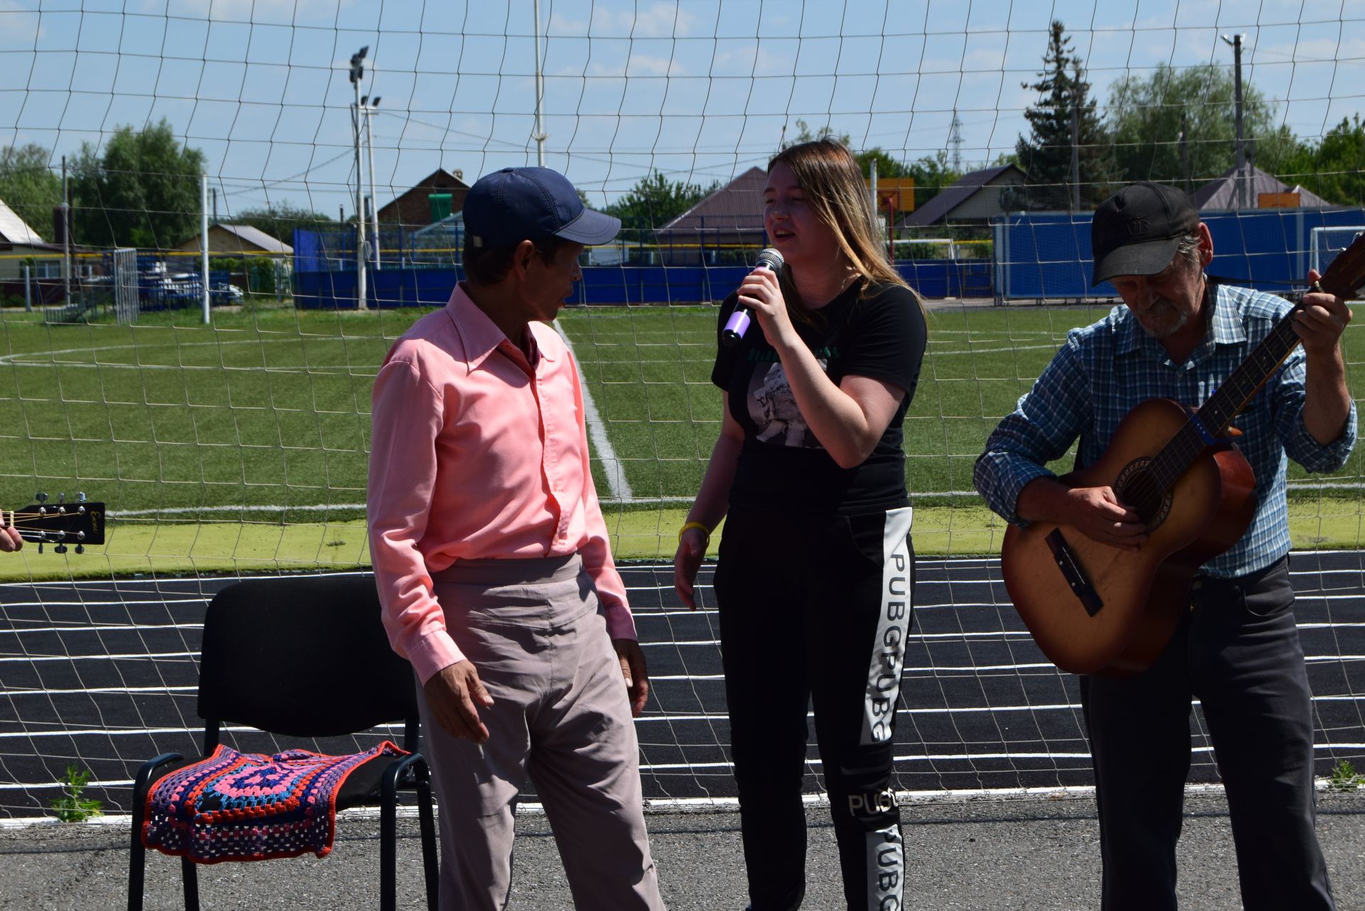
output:
[[[456,560],[579,552],[607,632],[636,638],[573,356],[550,326],[528,331],[534,366],[460,285],[394,343],[374,381],[370,552],[389,642],[423,682],[464,658],[431,587]]]

